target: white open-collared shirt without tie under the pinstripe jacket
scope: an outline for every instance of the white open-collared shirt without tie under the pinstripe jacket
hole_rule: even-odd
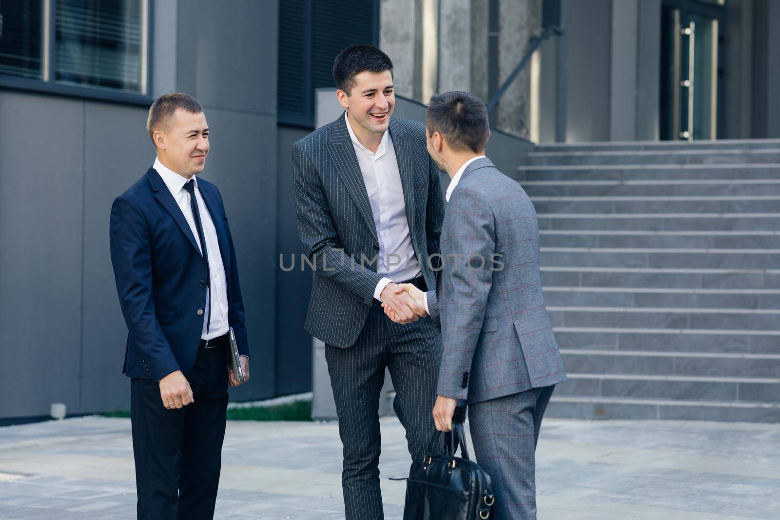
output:
[[[382,290],[391,282],[407,281],[420,275],[420,264],[414,254],[409,221],[406,220],[406,203],[403,199],[401,174],[395,158],[390,133],[385,131],[374,154],[357,140],[346,113],[346,128],[352,140],[357,164],[363,174],[371,213],[379,240],[377,273],[381,281],[374,289],[374,298],[381,301]],[[394,264],[394,265],[389,265]]]

